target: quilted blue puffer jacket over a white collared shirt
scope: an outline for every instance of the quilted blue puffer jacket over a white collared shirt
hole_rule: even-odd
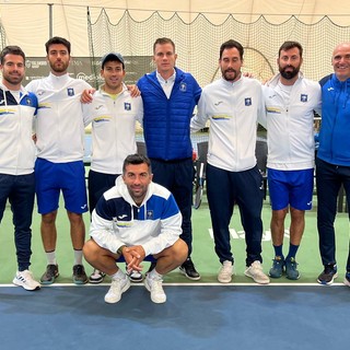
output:
[[[155,71],[138,81],[143,100],[143,133],[147,154],[163,161],[192,156],[189,122],[201,89],[190,73],[175,68],[176,78],[167,98]]]

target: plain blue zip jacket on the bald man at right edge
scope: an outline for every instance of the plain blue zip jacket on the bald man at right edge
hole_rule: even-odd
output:
[[[330,164],[350,166],[350,79],[335,74],[320,80],[322,124],[317,156]]]

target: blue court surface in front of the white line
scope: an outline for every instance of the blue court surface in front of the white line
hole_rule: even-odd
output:
[[[0,288],[1,349],[348,349],[350,290],[323,285],[108,284]]]

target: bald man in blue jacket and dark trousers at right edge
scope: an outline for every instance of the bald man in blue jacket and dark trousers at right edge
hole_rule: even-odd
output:
[[[343,185],[350,203],[350,43],[339,44],[331,58],[334,73],[320,81],[322,126],[316,159],[317,229],[324,271],[320,284],[337,278],[335,219],[337,197]],[[350,287],[350,255],[343,280]]]

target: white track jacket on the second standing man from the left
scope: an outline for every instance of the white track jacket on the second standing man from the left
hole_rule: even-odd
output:
[[[39,108],[36,118],[37,156],[52,163],[82,161],[84,127],[89,115],[80,102],[91,86],[69,74],[31,81],[26,89],[37,95]]]

